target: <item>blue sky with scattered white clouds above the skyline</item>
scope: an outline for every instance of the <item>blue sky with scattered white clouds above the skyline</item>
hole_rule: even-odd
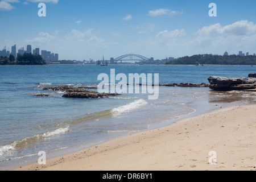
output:
[[[39,3],[46,16],[39,16]],[[216,4],[216,15],[210,3]],[[27,44],[60,60],[256,53],[256,1],[0,0],[0,49]]]

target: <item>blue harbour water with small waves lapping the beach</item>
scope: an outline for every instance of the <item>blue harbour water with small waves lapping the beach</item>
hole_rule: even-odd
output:
[[[78,151],[127,134],[156,129],[234,104],[254,104],[255,93],[159,87],[159,97],[125,93],[97,99],[63,98],[47,86],[97,86],[100,73],[158,73],[159,84],[208,84],[209,76],[247,77],[248,65],[2,65],[0,66],[0,170]],[[153,79],[154,80],[154,79]],[[117,81],[118,82],[118,81]],[[116,83],[117,83],[116,82]],[[44,93],[50,97],[36,97]]]

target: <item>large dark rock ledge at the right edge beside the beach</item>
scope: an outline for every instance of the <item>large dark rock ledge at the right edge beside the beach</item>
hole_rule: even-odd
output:
[[[249,74],[248,78],[227,78],[210,76],[209,88],[214,90],[252,90],[256,89],[256,73]]]

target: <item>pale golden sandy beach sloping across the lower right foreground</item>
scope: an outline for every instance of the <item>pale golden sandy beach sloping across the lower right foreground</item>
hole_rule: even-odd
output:
[[[14,170],[256,170],[255,110],[220,109]]]

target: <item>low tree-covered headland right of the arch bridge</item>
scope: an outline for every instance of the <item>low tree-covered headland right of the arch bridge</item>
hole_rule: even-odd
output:
[[[176,60],[168,61],[166,64],[218,64],[218,65],[256,65],[256,56],[240,55],[193,55],[179,57]]]

